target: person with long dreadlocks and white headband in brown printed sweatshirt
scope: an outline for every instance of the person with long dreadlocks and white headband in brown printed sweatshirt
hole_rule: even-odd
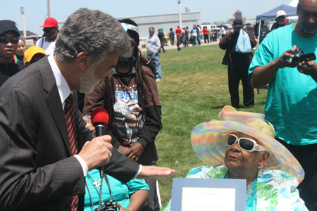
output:
[[[83,109],[86,127],[94,132],[90,115],[94,108],[103,107],[109,113],[106,134],[113,148],[141,165],[156,165],[159,159],[155,146],[156,135],[162,128],[161,105],[155,76],[143,65],[139,51],[139,28],[130,19],[118,20],[131,40],[134,55],[119,58],[111,79],[106,79],[86,94]],[[150,60],[147,62],[150,63]],[[159,210],[156,203],[156,181],[146,179],[149,198],[142,211]]]

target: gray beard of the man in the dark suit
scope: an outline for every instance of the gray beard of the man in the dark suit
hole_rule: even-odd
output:
[[[96,75],[96,67],[91,67],[80,76],[80,92],[85,94],[90,94],[94,91],[100,82],[104,81],[104,78],[100,78]]]

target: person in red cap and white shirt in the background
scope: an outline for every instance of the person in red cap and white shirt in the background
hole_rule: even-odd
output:
[[[46,55],[51,55],[55,51],[55,41],[58,36],[58,24],[55,18],[46,18],[44,25],[44,35],[41,39],[37,40],[35,46],[44,49]]]

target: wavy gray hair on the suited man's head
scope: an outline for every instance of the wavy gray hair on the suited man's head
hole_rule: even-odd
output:
[[[101,63],[108,53],[132,55],[130,39],[120,23],[111,15],[88,8],[80,8],[67,18],[54,53],[58,61],[67,62],[82,51],[88,53],[93,65]]]

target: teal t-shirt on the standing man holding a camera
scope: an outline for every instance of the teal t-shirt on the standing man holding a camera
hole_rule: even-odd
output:
[[[311,38],[299,37],[294,24],[273,30],[261,42],[249,67],[264,66],[285,51],[297,48],[317,55],[317,34]],[[316,62],[316,60],[315,60]],[[275,136],[293,145],[317,143],[317,83],[297,68],[278,70],[268,86],[265,119],[275,128]]]

